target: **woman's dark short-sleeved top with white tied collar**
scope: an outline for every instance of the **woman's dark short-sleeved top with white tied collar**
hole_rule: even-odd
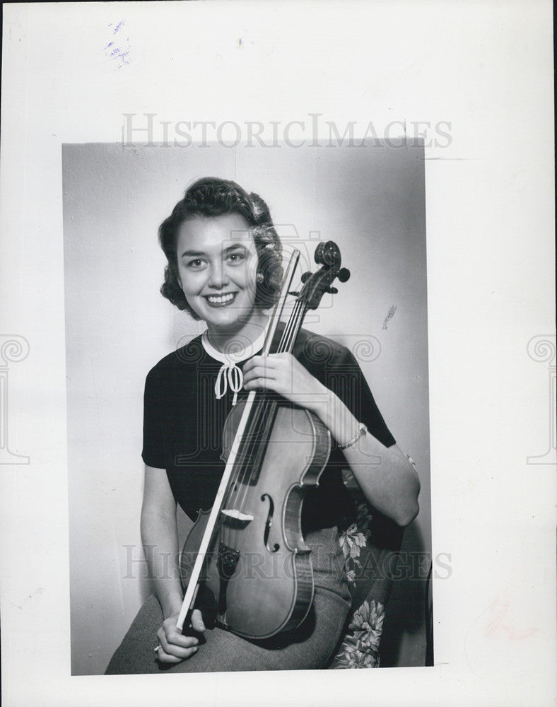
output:
[[[394,444],[356,359],[345,346],[301,329],[293,355],[326,385],[386,447]],[[242,363],[238,363],[240,368]],[[204,349],[201,337],[165,356],[148,373],[143,415],[143,461],[166,469],[175,500],[190,518],[211,508],[225,462],[222,431],[232,409],[233,393],[216,399],[215,382],[221,361]],[[238,399],[246,397],[240,392]],[[348,467],[332,440],[329,462],[319,486],[305,496],[303,530],[339,524],[353,514],[353,501],[341,477]]]

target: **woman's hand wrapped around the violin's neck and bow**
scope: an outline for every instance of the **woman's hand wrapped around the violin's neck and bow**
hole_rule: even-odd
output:
[[[327,397],[327,388],[292,354],[253,356],[243,367],[245,390],[273,390],[287,400],[316,410]]]

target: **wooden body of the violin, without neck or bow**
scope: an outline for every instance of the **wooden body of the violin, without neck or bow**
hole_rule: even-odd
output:
[[[225,458],[244,404],[238,402],[225,423]],[[331,448],[329,430],[307,409],[278,404],[273,416],[264,443],[247,445],[241,463],[257,472],[240,475],[228,489],[200,585],[205,600],[207,592],[212,597],[216,624],[252,639],[294,629],[310,610],[313,575],[302,535],[302,502],[318,484]],[[184,585],[208,518],[209,512],[199,513],[184,544]]]

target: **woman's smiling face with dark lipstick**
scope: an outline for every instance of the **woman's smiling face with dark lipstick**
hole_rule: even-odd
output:
[[[179,283],[209,332],[250,319],[254,310],[257,252],[240,214],[184,221],[177,235]]]

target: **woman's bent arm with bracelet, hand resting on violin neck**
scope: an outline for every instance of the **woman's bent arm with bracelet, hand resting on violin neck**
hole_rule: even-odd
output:
[[[245,363],[243,374],[246,390],[274,390],[307,408],[322,420],[339,444],[347,443],[358,433],[360,420],[291,354],[254,356]],[[418,474],[396,444],[385,447],[368,432],[346,448],[344,456],[374,508],[401,526],[416,518]]]

